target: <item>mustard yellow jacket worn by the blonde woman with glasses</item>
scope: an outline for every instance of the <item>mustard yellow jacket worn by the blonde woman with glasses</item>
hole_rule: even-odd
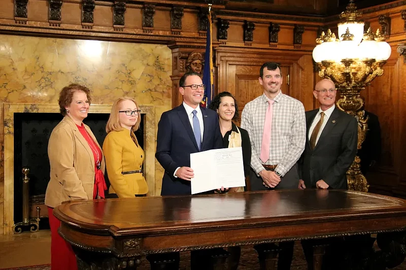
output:
[[[111,131],[103,143],[107,174],[110,180],[109,193],[119,198],[134,198],[147,194],[148,185],[142,173],[121,174],[126,171],[141,170],[144,150],[134,143],[128,129]]]

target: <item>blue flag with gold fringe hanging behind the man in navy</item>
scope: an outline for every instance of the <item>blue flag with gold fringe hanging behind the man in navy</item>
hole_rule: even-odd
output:
[[[203,84],[206,86],[205,97],[203,98],[203,105],[209,107],[213,98],[214,85],[213,85],[213,45],[212,45],[212,16],[208,14],[207,26],[207,41],[206,41],[206,54],[205,54],[205,67],[203,69]]]

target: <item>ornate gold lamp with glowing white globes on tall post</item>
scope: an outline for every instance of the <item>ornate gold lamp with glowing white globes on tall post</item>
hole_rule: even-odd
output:
[[[350,0],[346,11],[340,14],[341,22],[337,25],[340,38],[336,38],[328,29],[316,39],[317,45],[313,50],[319,76],[333,81],[340,93],[337,107],[358,120],[358,149],[365,139],[368,120],[364,117],[364,99],[360,92],[383,74],[382,67],[391,54],[385,35],[379,29],[374,33],[370,27],[364,32],[361,17],[362,13]],[[368,191],[368,183],[359,163],[357,156],[347,171],[348,188]]]

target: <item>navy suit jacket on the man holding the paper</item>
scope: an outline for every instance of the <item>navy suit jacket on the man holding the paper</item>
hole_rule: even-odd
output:
[[[203,114],[201,150],[222,148],[217,113],[200,107]],[[198,152],[196,139],[183,104],[162,113],[158,123],[155,157],[165,170],[161,195],[191,195],[190,181],[174,177],[178,167],[190,167],[190,154]]]

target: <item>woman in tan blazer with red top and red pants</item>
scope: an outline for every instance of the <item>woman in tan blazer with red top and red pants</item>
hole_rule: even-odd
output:
[[[77,270],[76,256],[70,244],[58,234],[60,221],[53,208],[64,201],[104,198],[104,157],[90,128],[83,124],[90,106],[90,90],[71,84],[59,94],[64,116],[52,130],[48,143],[51,167],[45,193],[51,227],[51,270]]]

